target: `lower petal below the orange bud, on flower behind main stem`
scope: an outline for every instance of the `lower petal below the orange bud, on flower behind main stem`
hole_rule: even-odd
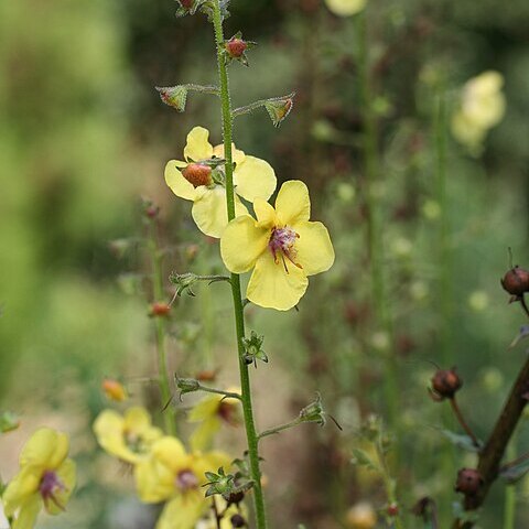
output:
[[[193,204],[191,214],[203,234],[220,238],[224,228],[228,225],[225,188],[222,186],[213,190],[204,188],[203,195]],[[235,198],[235,214],[236,216],[248,214],[248,209],[237,197]]]

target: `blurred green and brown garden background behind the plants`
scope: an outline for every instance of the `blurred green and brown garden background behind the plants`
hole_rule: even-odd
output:
[[[142,381],[155,371],[149,287],[140,281],[138,289],[134,276],[149,274],[149,262],[141,245],[129,240],[119,259],[109,241],[142,236],[140,197],[148,197],[161,207],[166,277],[222,270],[217,245],[201,236],[190,204],[163,182],[166,160],[181,158],[193,126],[220,141],[214,97],[192,94],[186,112],[176,114],[153,89],[215,83],[210,28],[203,17],[176,20],[174,11],[171,0],[0,0],[0,409],[22,415],[21,431],[0,439],[0,472],[12,475],[36,425],[69,431],[84,473],[56,528],[150,527],[130,477],[107,467],[90,433],[107,406],[104,376],[122,377],[137,401],[156,401]],[[249,314],[271,359],[255,375],[259,423],[295,417],[320,390],[344,427],[343,434],[303,427],[267,441],[272,527],[345,527],[356,501],[384,505],[380,483],[355,472],[350,450],[359,418],[387,412],[379,387],[388,355],[409,463],[396,469],[403,504],[429,495],[447,516],[454,472],[468,456],[439,455],[446,442],[432,427],[456,427],[428,398],[429,361],[457,365],[462,407],[485,438],[523,355],[507,350],[525,320],[507,305],[498,280],[509,267],[508,247],[515,263],[529,260],[529,4],[380,0],[368,2],[367,20],[384,303],[396,338],[389,349],[369,288],[355,21],[334,17],[319,0],[234,0],[226,23],[227,36],[240,29],[259,43],[249,69],[230,68],[236,106],[296,91],[279,131],[264,111],[240,118],[237,145],[268,160],[280,181],[309,184],[313,216],[330,227],[337,256],[331,272],[311,280],[299,313]],[[441,261],[432,79],[442,79],[450,114],[460,87],[487,69],[505,77],[507,114],[479,158],[449,137],[450,244]],[[179,300],[172,325],[173,368],[190,375],[220,368],[223,380],[237,382],[223,285]],[[520,452],[529,445],[525,430]],[[229,436],[242,446],[241,431]],[[493,493],[483,528],[501,523],[504,489]],[[518,493],[521,528],[529,483]]]

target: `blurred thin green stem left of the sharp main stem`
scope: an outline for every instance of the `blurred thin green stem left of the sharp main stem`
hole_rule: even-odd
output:
[[[149,226],[149,251],[152,261],[152,290],[154,302],[163,300],[163,273],[162,273],[162,255],[158,246],[156,224],[155,220],[150,220]],[[160,386],[160,393],[162,398],[162,406],[165,406],[171,400],[171,389],[169,386],[168,359],[165,353],[165,321],[161,316],[155,316],[156,326],[156,350],[158,350],[158,384]],[[173,408],[170,406],[163,412],[163,421],[165,432],[169,435],[176,434],[176,421],[174,419]]]

